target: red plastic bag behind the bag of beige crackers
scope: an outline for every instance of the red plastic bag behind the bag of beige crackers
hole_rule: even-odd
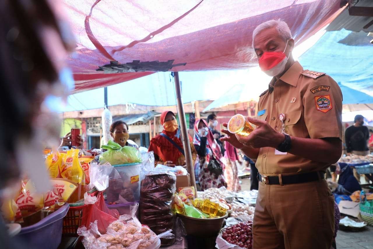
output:
[[[93,195],[94,193],[92,193]],[[88,205],[83,212],[82,226],[89,227],[91,222],[97,220],[98,231],[101,234],[106,233],[107,226],[119,218],[119,212],[116,209],[109,209],[106,206],[102,191],[97,193],[97,202]]]

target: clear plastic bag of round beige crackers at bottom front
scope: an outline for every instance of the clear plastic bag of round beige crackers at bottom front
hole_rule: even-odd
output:
[[[106,234],[101,234],[97,221],[92,222],[90,229],[80,227],[78,234],[84,236],[83,245],[86,249],[157,249],[160,238],[173,239],[175,236],[168,230],[156,235],[146,225],[136,218],[138,203],[132,206],[131,215],[121,215],[106,228]]]

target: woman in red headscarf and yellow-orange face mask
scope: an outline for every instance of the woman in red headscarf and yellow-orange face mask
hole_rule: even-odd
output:
[[[149,150],[154,152],[155,165],[167,166],[185,165],[184,147],[181,141],[181,133],[178,129],[178,121],[172,111],[164,111],[161,114],[163,131],[150,141]],[[192,138],[189,136],[189,141]],[[197,153],[191,146],[192,158],[195,160]]]

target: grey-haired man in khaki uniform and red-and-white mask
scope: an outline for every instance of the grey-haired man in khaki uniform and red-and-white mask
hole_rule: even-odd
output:
[[[228,136],[222,138],[256,160],[253,248],[329,249],[334,197],[324,172],[342,153],[341,89],[294,61],[283,21],[259,25],[253,47],[261,69],[274,76],[260,95],[258,118],[247,118],[257,128],[246,137],[223,130]]]

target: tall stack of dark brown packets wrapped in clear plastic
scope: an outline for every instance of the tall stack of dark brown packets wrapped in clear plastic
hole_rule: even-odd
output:
[[[141,181],[140,217],[156,234],[173,229],[175,214],[171,210],[172,196],[176,190],[176,176],[172,172],[148,172]],[[162,245],[173,245],[175,239],[161,239]]]

